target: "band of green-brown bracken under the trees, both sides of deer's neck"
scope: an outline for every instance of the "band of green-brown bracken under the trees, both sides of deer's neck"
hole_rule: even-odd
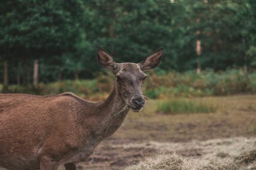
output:
[[[159,71],[159,70],[158,70]],[[148,72],[143,90],[150,99],[192,98],[197,96],[230,95],[237,93],[256,92],[256,74],[245,74],[242,70],[227,70],[221,72],[203,71],[197,74],[194,71],[155,73]],[[5,92],[57,94],[71,91],[82,98],[105,99],[114,86],[115,77],[112,73],[95,75],[91,80],[63,80],[52,83],[40,83],[38,88],[32,85],[10,85]],[[0,84],[0,90],[3,87]]]

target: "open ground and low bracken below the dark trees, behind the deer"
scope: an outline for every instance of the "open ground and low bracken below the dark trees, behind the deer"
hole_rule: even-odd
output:
[[[78,163],[78,169],[256,169],[255,78],[255,73],[241,70],[200,75],[150,72],[144,110],[130,112],[120,129],[86,162]],[[6,92],[71,91],[101,101],[113,82],[113,75],[99,74],[93,80],[40,83],[37,88],[10,85]]]

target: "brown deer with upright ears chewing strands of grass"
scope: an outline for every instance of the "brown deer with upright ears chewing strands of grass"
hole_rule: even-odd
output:
[[[144,106],[144,70],[155,68],[163,48],[142,62],[117,63],[98,47],[97,60],[116,77],[108,99],[90,103],[66,92],[57,95],[0,94],[0,166],[8,169],[67,170],[86,160],[112,135],[129,110]]]

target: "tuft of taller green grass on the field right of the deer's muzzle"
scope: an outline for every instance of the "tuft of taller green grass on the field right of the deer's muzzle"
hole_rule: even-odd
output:
[[[212,101],[194,99],[169,99],[158,103],[157,112],[163,113],[214,113],[217,107]]]

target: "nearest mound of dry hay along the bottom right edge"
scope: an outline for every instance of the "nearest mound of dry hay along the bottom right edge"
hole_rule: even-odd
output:
[[[225,156],[223,156],[225,155]],[[176,153],[146,159],[125,170],[256,170],[256,148],[238,155],[183,157]]]

